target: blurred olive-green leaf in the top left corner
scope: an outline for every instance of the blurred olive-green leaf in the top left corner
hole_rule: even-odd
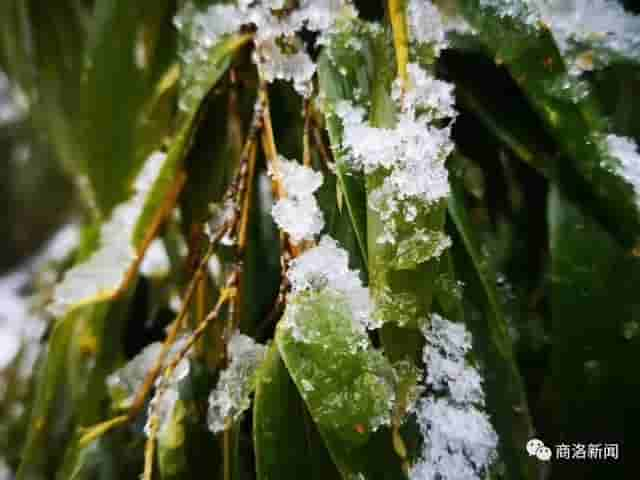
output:
[[[77,6],[73,0],[0,5],[1,63],[33,106],[34,123],[74,175],[87,172],[76,128],[87,23],[84,8]]]

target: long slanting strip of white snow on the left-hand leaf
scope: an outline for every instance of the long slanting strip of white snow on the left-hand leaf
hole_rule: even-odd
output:
[[[133,196],[117,206],[102,225],[98,250],[71,268],[56,286],[49,307],[53,315],[61,316],[78,304],[106,298],[122,284],[136,259],[132,239],[137,220],[165,157],[164,153],[156,152],[147,159],[135,180]]]

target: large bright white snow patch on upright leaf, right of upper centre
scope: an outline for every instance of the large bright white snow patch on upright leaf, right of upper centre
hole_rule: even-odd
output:
[[[409,74],[405,111],[399,114],[395,128],[368,125],[365,110],[346,100],[335,108],[343,124],[343,147],[350,152],[354,166],[365,173],[390,171],[378,192],[391,198],[388,205],[408,198],[430,204],[449,194],[444,163],[453,150],[450,128],[429,122],[455,114],[453,88],[417,64],[410,64]],[[394,96],[400,99],[397,87]]]

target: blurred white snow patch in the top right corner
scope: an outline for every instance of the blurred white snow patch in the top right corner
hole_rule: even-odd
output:
[[[640,16],[615,0],[536,0],[560,51],[580,73],[616,57],[640,61]]]

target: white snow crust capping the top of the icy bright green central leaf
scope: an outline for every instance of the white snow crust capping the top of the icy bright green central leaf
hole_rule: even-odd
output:
[[[349,255],[329,236],[291,262],[287,278],[292,295],[304,291],[330,289],[344,296],[358,328],[380,326],[373,318],[369,289],[362,285],[357,271],[349,268]]]

